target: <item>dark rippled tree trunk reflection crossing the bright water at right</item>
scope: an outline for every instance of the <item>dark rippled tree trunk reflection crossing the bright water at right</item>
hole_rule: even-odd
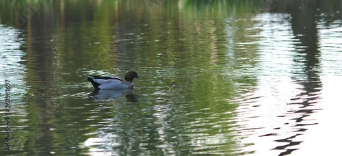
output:
[[[291,103],[289,105],[299,106],[299,109],[288,112],[290,116],[293,114],[298,115],[298,117],[293,118],[295,122],[286,123],[290,125],[290,127],[295,128],[295,135],[292,135],[288,138],[284,138],[281,140],[275,140],[276,142],[287,143],[282,146],[276,146],[274,150],[284,150],[286,151],[280,153],[279,155],[288,155],[292,151],[295,151],[298,148],[289,148],[290,146],[296,146],[301,144],[302,141],[293,141],[298,135],[302,135],[304,131],[306,131],[307,125],[315,125],[317,122],[311,121],[311,123],[307,123],[305,118],[311,116],[317,108],[314,107],[317,100],[320,99],[319,94],[321,91],[321,80],[319,78],[320,73],[320,64],[319,64],[319,55],[320,51],[318,50],[318,33],[317,33],[317,23],[316,23],[316,14],[317,14],[317,3],[312,2],[304,2],[304,1],[288,1],[289,3],[285,4],[285,12],[291,14],[291,27],[293,30],[293,35],[295,39],[299,42],[296,42],[295,51],[297,51],[297,55],[293,59],[293,79],[295,82],[300,84],[302,88],[302,92],[295,96],[295,98],[291,99]],[[276,8],[277,9],[277,8]],[[280,8],[278,8],[281,10]],[[278,12],[278,10],[274,10]],[[298,70],[298,68],[301,68]],[[298,102],[300,101],[300,102]]]

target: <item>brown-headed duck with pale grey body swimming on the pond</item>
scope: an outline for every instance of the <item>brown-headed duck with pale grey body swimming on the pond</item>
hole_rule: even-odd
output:
[[[133,83],[134,78],[140,79],[139,75],[137,75],[137,72],[135,72],[135,70],[130,70],[124,76],[124,80],[126,80],[126,82],[124,82],[120,77],[107,75],[90,75],[88,76],[88,81],[92,83],[92,86],[96,90],[119,90],[125,88],[133,89],[135,87]]]

